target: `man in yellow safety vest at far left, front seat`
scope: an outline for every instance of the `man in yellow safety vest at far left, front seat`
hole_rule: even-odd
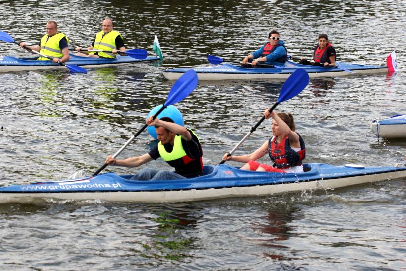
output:
[[[46,31],[41,41],[36,46],[27,46],[25,42],[20,43],[20,47],[27,46],[31,50],[35,50],[44,55],[54,57],[52,62],[66,62],[69,60],[69,39],[63,33],[58,33],[58,26],[55,21],[48,21]],[[26,48],[24,48],[26,49]],[[26,49],[34,54],[31,50]],[[38,60],[49,60],[46,57],[39,57]]]

